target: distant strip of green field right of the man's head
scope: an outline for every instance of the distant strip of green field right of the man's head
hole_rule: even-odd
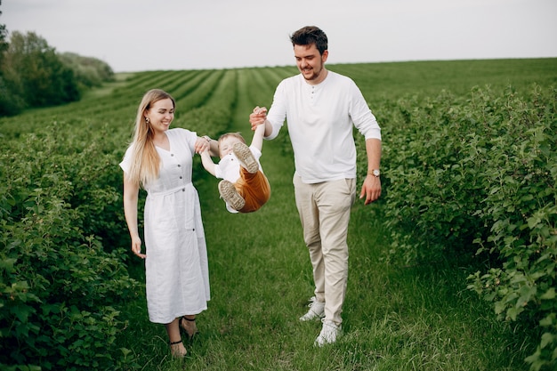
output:
[[[342,64],[330,69],[346,74],[359,85],[373,106],[382,98],[421,95],[436,97],[442,90],[458,95],[474,86],[496,89],[513,85],[523,90],[537,81],[557,84],[557,59],[529,60],[432,60],[368,64]],[[540,80],[543,77],[543,80]],[[372,107],[373,108],[373,107]]]

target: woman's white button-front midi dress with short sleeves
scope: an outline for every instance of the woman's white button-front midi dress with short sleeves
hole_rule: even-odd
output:
[[[205,232],[198,191],[191,182],[198,138],[182,128],[167,130],[170,150],[157,147],[162,166],[145,184],[145,276],[149,320],[170,323],[205,311],[210,300]],[[126,172],[130,149],[120,166]]]

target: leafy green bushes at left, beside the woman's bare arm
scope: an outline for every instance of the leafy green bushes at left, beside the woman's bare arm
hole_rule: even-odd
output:
[[[6,141],[1,156],[3,369],[118,369],[128,362],[126,350],[110,345],[126,327],[117,308],[138,284],[125,269],[127,254],[97,236],[114,229],[108,210],[121,208],[120,198],[106,156],[83,144],[91,133],[77,137],[69,129],[55,123]]]

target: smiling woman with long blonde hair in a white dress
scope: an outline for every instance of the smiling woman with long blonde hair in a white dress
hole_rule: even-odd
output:
[[[187,351],[197,332],[195,318],[210,299],[206,240],[198,191],[191,183],[192,157],[208,141],[182,128],[168,129],[175,101],[154,89],[137,110],[133,142],[120,163],[124,170],[124,212],[132,251],[145,259],[149,320],[165,324],[171,353]],[[144,211],[145,254],[137,222],[139,189],[147,190]]]

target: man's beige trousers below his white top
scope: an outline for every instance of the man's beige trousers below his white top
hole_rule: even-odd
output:
[[[325,302],[325,319],[340,325],[348,279],[346,238],[356,181],[306,184],[295,175],[294,188],[303,240],[310,251],[315,296]]]

